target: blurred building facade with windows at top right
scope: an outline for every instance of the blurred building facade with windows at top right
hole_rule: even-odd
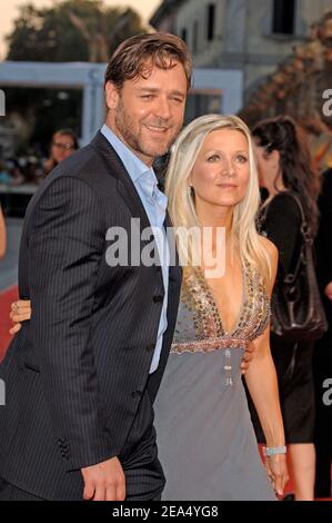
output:
[[[242,70],[247,100],[329,8],[331,0],[164,0],[150,23],[182,37],[195,67]]]

